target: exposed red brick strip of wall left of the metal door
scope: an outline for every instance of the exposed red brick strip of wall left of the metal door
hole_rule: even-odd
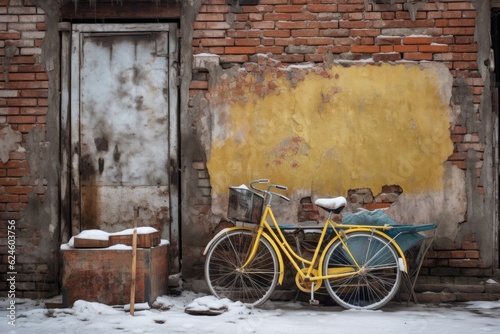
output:
[[[45,129],[48,81],[40,65],[45,15],[31,1],[0,0],[0,130],[10,127],[21,136],[18,149],[9,160],[0,160],[0,296],[7,289],[6,272],[17,272],[16,297],[39,298],[57,292],[55,277],[49,266],[24,255],[23,250],[36,249],[39,231],[23,220],[30,196],[43,201],[46,187],[35,184],[28,164],[27,136],[34,127]],[[9,50],[13,57],[6,57]],[[3,145],[3,143],[2,143]],[[39,181],[43,183],[43,180]],[[7,245],[8,222],[15,221],[15,267],[10,267]]]

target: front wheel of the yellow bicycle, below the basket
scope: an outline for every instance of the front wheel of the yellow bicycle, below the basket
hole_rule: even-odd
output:
[[[257,254],[242,269],[254,239],[252,231],[230,231],[209,249],[205,279],[216,297],[259,306],[271,296],[278,282],[279,264],[276,252],[265,238],[258,240]]]

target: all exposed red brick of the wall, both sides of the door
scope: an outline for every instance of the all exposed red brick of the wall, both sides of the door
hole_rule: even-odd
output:
[[[477,110],[483,82],[476,63],[473,1],[428,1],[415,20],[404,9],[404,2],[365,8],[364,0],[260,0],[258,6],[237,8],[228,6],[226,0],[206,0],[194,22],[193,52],[218,54],[223,67],[251,61],[256,53],[268,54],[283,64],[367,58],[440,62],[457,80],[465,81]],[[30,130],[44,130],[46,123],[48,82],[40,65],[44,19],[43,11],[30,0],[0,0],[0,59],[7,65],[0,73],[0,130],[10,127],[21,135],[20,149],[10,152],[6,163],[0,161],[1,295],[7,291],[4,273],[8,271],[9,220],[16,220],[19,236],[16,271],[22,274],[18,276],[17,297],[36,298],[56,290],[47,264],[22,255],[23,248],[37,247],[40,238],[36,227],[22,220],[28,199],[35,196],[43,201],[46,191],[43,180],[33,181],[25,151]],[[390,35],[387,29],[392,29]],[[418,34],[412,32],[415,29],[419,29]],[[15,51],[10,63],[5,58],[7,50]],[[206,92],[207,80],[206,72],[193,73],[190,95]],[[193,106],[193,101],[189,103]],[[483,143],[465,124],[454,125],[450,135],[455,152],[449,161],[464,170],[474,169],[481,191]],[[478,155],[475,166],[467,166],[465,161],[471,150]],[[203,188],[196,204],[206,212],[210,206],[208,175],[204,162],[193,167]],[[315,214],[310,203],[306,209]],[[428,273],[446,274],[432,268],[462,268],[459,274],[464,270],[471,273],[471,265],[481,268],[480,256],[475,248],[471,253],[468,243],[475,244],[473,235],[456,250],[435,250],[426,263]]]

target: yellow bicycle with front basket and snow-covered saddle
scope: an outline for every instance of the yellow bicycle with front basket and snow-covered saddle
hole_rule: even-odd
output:
[[[205,278],[213,295],[248,306],[263,304],[283,282],[284,255],[296,271],[297,287],[311,294],[311,303],[317,303],[314,293],[323,284],[344,308],[378,309],[395,296],[407,270],[396,238],[408,231],[408,225],[340,224],[333,217],[346,206],[346,199],[320,198],[315,204],[329,216],[312,246],[312,258],[306,258],[301,247],[292,246],[287,238],[287,231],[305,228],[279,226],[271,209],[273,196],[289,200],[271,190],[287,187],[255,187],[268,183],[255,180],[250,183],[251,189],[230,188],[228,217],[253,226],[226,228],[206,246]],[[388,235],[389,230],[398,228],[396,236]]]

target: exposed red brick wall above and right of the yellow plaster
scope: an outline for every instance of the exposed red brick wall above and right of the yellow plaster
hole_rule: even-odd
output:
[[[257,6],[231,7],[226,0],[207,0],[194,23],[193,52],[220,55],[222,67],[256,61],[253,56],[257,53],[284,65],[327,59],[438,62],[456,79],[454,90],[459,84],[467,87],[476,113],[471,117],[478,117],[484,87],[477,66],[473,1],[424,2],[414,20],[405,9],[406,0],[378,2],[385,4],[365,7],[364,0],[260,0]],[[206,75],[202,71],[193,74],[191,96],[207,90]],[[472,169],[477,186],[469,191],[482,193],[484,143],[465,124],[451,124],[450,136],[454,153],[449,161],[462,170]],[[466,164],[470,150],[477,158],[474,166]],[[317,219],[311,200],[303,202],[298,219]],[[462,245],[456,250],[430,253],[423,273],[485,274],[474,235],[457,242]]]

